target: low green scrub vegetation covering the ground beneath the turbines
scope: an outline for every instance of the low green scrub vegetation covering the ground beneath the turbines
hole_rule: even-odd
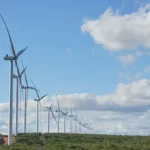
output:
[[[150,136],[19,134],[0,150],[150,150]]]

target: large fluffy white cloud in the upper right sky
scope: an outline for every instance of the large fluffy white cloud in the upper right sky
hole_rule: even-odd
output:
[[[121,15],[108,8],[95,20],[81,26],[97,44],[110,51],[132,50],[138,46],[150,48],[150,4],[137,12]]]

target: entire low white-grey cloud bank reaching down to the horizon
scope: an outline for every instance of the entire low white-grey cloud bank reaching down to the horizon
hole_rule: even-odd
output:
[[[92,123],[96,133],[137,134],[137,130],[140,131],[139,134],[148,133],[150,80],[141,79],[129,84],[119,83],[114,92],[107,95],[74,93],[58,95],[58,99],[62,110],[65,108],[69,110],[71,105],[73,113],[76,113],[81,121]],[[46,97],[41,102],[40,121],[43,123],[40,125],[40,131],[47,132],[47,110],[44,107],[50,105],[52,100],[55,100],[53,110],[57,117],[56,97]],[[2,106],[5,106],[5,109],[3,109],[4,112],[0,112],[0,133],[7,133],[8,112],[6,110],[8,103],[0,104],[1,108]],[[61,116],[60,122],[60,131],[63,132],[63,116]],[[70,130],[69,122],[70,120],[67,119],[67,132]],[[52,116],[50,123],[51,131],[57,132],[57,126]],[[19,131],[23,131],[23,112],[21,116],[19,115]],[[36,105],[33,100],[28,101],[27,131],[36,131]]]

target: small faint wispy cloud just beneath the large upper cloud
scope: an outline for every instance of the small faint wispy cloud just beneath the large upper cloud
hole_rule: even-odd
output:
[[[135,61],[135,56],[133,54],[121,55],[116,57],[124,66],[131,65]]]

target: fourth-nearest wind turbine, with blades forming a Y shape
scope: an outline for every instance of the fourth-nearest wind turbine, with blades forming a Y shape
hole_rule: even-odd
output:
[[[33,81],[32,81],[32,84],[33,84],[33,86],[34,86],[34,89],[36,89],[36,86],[35,86],[35,84],[33,83]],[[44,97],[47,96],[47,94],[40,97],[38,91],[37,91],[37,90],[35,90],[35,91],[36,91],[36,94],[37,94],[37,98],[34,99],[34,101],[37,102],[37,133],[39,133],[39,103],[41,102],[41,100],[42,100]],[[40,103],[40,106],[41,106],[41,103]],[[40,107],[40,109],[41,109],[41,107]]]

